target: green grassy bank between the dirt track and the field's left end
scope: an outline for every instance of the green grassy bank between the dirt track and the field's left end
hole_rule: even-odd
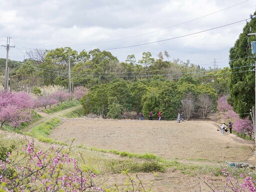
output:
[[[60,119],[58,117],[53,117],[37,126],[34,126],[28,135],[35,138],[47,138],[47,136],[51,133],[52,129],[54,129],[57,125],[60,124]]]

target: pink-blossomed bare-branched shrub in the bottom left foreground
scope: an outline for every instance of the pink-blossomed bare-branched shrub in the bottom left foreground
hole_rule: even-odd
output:
[[[66,151],[66,153],[64,152]],[[68,157],[70,149],[46,151],[35,150],[33,142],[19,153],[20,160],[15,163],[6,158],[0,161],[0,189],[6,191],[103,191],[96,187],[95,173],[87,168],[81,169],[76,159]],[[64,167],[72,164],[68,170]],[[6,176],[5,171],[13,170]]]

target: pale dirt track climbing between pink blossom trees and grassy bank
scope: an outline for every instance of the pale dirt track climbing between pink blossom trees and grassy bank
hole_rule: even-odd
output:
[[[55,116],[58,116],[59,114],[62,114],[62,113],[65,113],[65,112],[68,112],[70,110],[73,110],[73,109],[76,109],[76,108],[79,108],[81,107],[81,105],[78,105],[78,106],[74,106],[74,107],[71,107],[71,108],[67,108],[67,109],[64,109],[64,110],[61,110],[61,111],[57,111],[57,112],[54,112],[52,114],[47,114],[47,113],[40,113],[39,114],[42,116],[42,118],[40,118],[39,120],[33,122],[32,124],[29,124],[26,128],[22,129],[22,132],[28,132],[30,131],[30,129],[38,124],[41,124]]]

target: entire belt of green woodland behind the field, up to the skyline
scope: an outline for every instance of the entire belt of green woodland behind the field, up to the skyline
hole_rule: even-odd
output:
[[[13,65],[12,89],[32,92],[42,85],[67,87],[70,61],[72,87],[89,89],[81,99],[86,114],[120,118],[130,111],[146,115],[162,110],[163,118],[173,119],[177,111],[186,109],[189,117],[200,111],[206,116],[216,109],[216,95],[228,93],[228,67],[205,70],[189,60],[170,60],[167,51],[160,51],[157,58],[145,51],[138,60],[131,54],[122,62],[97,48],[79,53],[70,47],[34,51],[29,52],[29,59]],[[201,108],[198,98],[209,102],[207,109]]]

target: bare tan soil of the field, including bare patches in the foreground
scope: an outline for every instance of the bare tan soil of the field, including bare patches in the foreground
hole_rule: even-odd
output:
[[[101,149],[116,149],[134,153],[154,153],[165,159],[184,163],[224,164],[224,161],[254,164],[254,141],[234,134],[217,131],[220,124],[213,121],[158,121],[63,119],[51,138],[66,141],[76,138],[75,144]],[[155,176],[139,173],[153,191],[210,191],[196,176],[167,169]],[[109,175],[109,182],[123,183],[120,174]],[[216,178],[221,182],[223,178]],[[199,190],[200,188],[200,190]]]

